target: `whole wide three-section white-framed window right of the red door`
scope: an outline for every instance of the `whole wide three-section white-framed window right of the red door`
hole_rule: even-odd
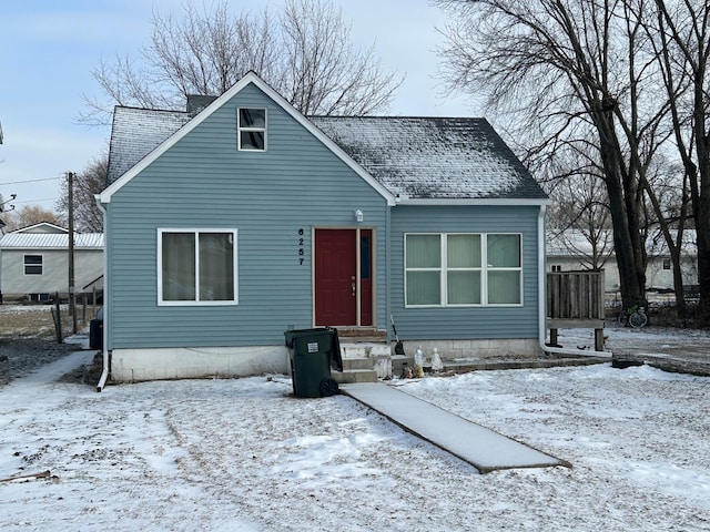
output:
[[[519,234],[405,234],[405,305],[521,305],[521,244]]]

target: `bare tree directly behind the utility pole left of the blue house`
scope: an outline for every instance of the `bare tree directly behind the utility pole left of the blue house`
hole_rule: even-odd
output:
[[[74,174],[74,228],[79,232],[103,232],[103,214],[97,206],[94,194],[106,187],[109,154],[103,153],[91,161],[82,172]],[[57,209],[69,215],[69,192],[67,176],[61,183],[61,196]]]

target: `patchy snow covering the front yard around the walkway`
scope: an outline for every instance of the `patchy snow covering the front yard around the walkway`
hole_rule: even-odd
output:
[[[708,378],[605,364],[404,383],[572,464],[478,474],[283,376],[52,380],[90,355],[0,388],[0,479],[50,471],[0,482],[3,531],[710,530]]]

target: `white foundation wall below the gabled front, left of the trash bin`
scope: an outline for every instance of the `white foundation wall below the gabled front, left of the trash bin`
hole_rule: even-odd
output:
[[[110,360],[113,382],[290,374],[280,346],[113,349]]]

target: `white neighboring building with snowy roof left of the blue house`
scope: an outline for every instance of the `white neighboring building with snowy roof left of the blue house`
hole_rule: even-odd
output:
[[[49,300],[69,291],[69,231],[41,223],[0,241],[4,299]],[[103,275],[103,233],[74,233],[74,289]]]

